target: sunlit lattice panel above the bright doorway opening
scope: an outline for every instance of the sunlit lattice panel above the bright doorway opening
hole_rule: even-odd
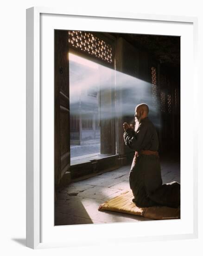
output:
[[[99,39],[90,32],[69,31],[69,43],[88,54],[91,54],[108,63],[113,62],[112,47],[104,40]]]

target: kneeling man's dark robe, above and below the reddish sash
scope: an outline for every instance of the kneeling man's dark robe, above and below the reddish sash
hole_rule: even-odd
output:
[[[142,119],[136,131],[124,132],[125,144],[138,152],[133,158],[129,182],[134,201],[140,207],[180,205],[180,184],[171,182],[162,185],[159,156],[139,154],[141,150],[158,151],[159,138],[156,128],[148,117]]]

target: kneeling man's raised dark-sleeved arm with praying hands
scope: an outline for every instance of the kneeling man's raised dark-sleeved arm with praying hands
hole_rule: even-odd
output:
[[[128,128],[123,134],[125,144],[134,151],[140,151],[146,144],[146,132],[147,126],[142,123],[140,123],[136,132],[133,129]]]

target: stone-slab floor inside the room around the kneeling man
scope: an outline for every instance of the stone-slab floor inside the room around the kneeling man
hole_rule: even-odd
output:
[[[55,205],[55,225],[139,222],[146,221],[141,216],[116,212],[98,211],[98,206],[129,190],[130,165],[95,177],[71,183],[57,191]],[[163,158],[161,161],[163,183],[180,182],[180,163]]]

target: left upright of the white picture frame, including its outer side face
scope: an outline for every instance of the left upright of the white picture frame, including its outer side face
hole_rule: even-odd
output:
[[[26,246],[40,243],[39,14],[26,9]]]

